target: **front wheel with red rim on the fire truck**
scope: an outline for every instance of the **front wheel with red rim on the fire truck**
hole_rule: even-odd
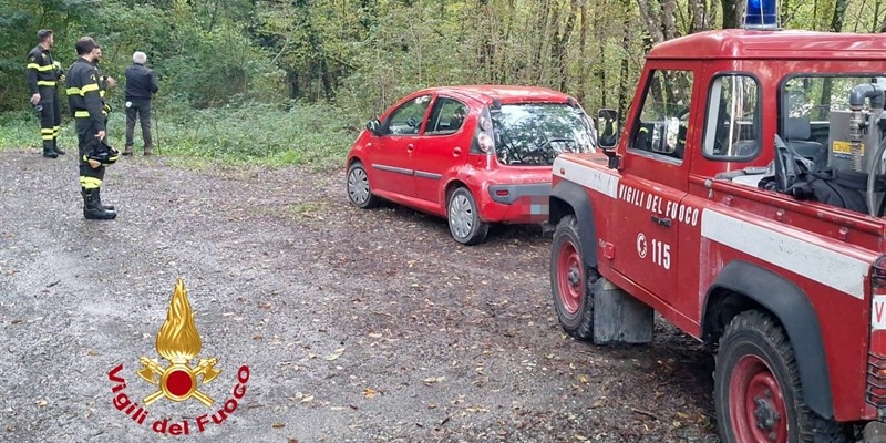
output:
[[[585,266],[581,257],[578,220],[567,215],[554,230],[550,292],[563,329],[578,340],[590,340],[594,336],[594,296],[588,274],[594,279],[599,276],[595,269]]]

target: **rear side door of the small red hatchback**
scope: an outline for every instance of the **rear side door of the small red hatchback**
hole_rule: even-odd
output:
[[[463,101],[439,95],[431,107],[427,127],[412,152],[415,196],[444,205],[443,186],[449,174],[463,165],[473,133],[467,127],[470,107]]]

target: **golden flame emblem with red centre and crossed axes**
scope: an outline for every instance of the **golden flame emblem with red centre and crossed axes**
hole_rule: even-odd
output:
[[[144,398],[145,405],[165,396],[175,402],[183,402],[189,398],[197,399],[200,403],[212,406],[213,399],[200,392],[197,388],[213,381],[222,370],[215,369],[218,359],[199,359],[197,365],[192,368],[193,360],[200,352],[200,336],[194,323],[194,311],[187,301],[185,284],[179,278],[175,282],[175,292],[169,300],[169,310],[166,321],[157,333],[156,349],[169,364],[164,368],[157,359],[142,357],[138,362],[142,369],[136,373],[158,390]]]

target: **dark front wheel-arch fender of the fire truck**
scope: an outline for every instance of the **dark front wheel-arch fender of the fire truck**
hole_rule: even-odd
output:
[[[548,222],[557,226],[560,218],[575,214],[578,237],[581,240],[581,260],[586,267],[597,266],[597,233],[594,227],[594,203],[585,189],[571,182],[562,181],[550,189]]]

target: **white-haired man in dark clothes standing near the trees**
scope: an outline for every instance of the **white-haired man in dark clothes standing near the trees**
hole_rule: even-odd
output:
[[[154,71],[145,66],[147,55],[136,51],[132,54],[132,65],[126,68],[126,145],[123,155],[132,155],[135,116],[142,125],[142,141],[145,143],[144,155],[151,155],[151,97],[159,89]]]

